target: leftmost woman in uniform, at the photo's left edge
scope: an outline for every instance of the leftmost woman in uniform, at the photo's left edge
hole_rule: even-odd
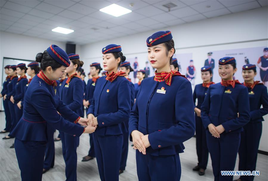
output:
[[[3,83],[3,89],[1,91],[0,98],[4,97],[4,95],[7,94],[7,85],[10,82],[9,67],[10,67],[10,65],[7,65],[7,66],[4,67],[5,74],[7,75],[7,77],[6,77],[6,80]],[[6,127],[0,133],[7,133],[7,132],[10,131],[10,127],[11,127],[11,115],[10,115],[10,112],[9,112],[9,109],[8,109],[8,102],[4,98],[3,98],[3,105],[4,105],[5,116],[6,116]]]

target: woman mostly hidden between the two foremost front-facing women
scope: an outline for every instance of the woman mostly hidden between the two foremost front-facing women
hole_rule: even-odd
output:
[[[130,72],[133,72],[133,69],[131,68],[130,63],[125,61],[120,65],[119,70],[122,72],[126,72],[125,77],[128,79],[128,81],[130,83],[130,91],[131,91],[131,96],[130,96],[131,108],[130,108],[130,110],[131,110],[133,105],[134,105],[135,88],[134,88],[134,84],[131,82],[131,79],[128,78],[128,75]],[[119,174],[122,174],[124,172],[124,170],[126,169],[127,158],[128,158],[128,137],[129,137],[128,120],[125,121],[125,125],[126,125],[127,132],[123,133],[123,148],[122,148],[122,154],[121,154]]]

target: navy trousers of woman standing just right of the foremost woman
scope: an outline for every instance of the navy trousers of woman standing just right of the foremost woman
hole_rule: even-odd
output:
[[[196,153],[198,157],[198,166],[202,169],[207,168],[208,148],[206,130],[203,126],[201,117],[195,115],[196,120]]]

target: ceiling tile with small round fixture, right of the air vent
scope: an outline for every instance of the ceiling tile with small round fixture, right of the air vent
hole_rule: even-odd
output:
[[[224,8],[224,6],[218,1],[205,1],[199,4],[194,4],[191,7],[200,13],[205,13],[208,11]]]

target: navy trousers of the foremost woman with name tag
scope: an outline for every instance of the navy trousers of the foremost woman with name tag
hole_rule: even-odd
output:
[[[181,178],[179,154],[153,156],[136,150],[136,163],[139,181],[178,181]]]

